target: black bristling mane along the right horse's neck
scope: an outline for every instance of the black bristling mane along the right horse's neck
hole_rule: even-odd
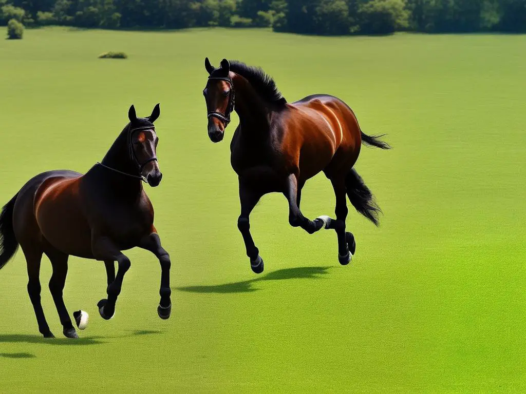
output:
[[[271,76],[261,67],[247,66],[239,60],[229,60],[230,71],[248,80],[250,85],[266,100],[278,106],[284,106],[287,100],[276,86]]]

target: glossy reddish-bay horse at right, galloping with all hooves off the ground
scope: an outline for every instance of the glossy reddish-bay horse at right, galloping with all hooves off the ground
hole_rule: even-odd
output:
[[[241,214],[238,228],[253,272],[263,272],[264,262],[250,235],[249,215],[261,196],[283,193],[289,204],[289,223],[309,234],[322,227],[338,236],[338,259],[346,265],[356,251],[355,238],[346,232],[346,194],[351,204],[378,225],[381,212],[372,193],[353,169],[362,143],[381,149],[390,146],[382,136],[367,136],[353,111],[329,95],[311,95],[287,103],[274,79],[261,68],[223,59],[218,68],[205,59],[208,80],[203,91],[208,110],[208,136],[224,138],[230,113],[239,126],[230,143],[230,163],[239,178]],[[336,195],[336,220],[319,216],[311,221],[300,211],[305,182],[323,171]]]

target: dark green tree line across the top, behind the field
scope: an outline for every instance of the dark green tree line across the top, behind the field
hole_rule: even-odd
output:
[[[315,35],[526,32],[526,0],[0,0],[0,25],[272,27]]]

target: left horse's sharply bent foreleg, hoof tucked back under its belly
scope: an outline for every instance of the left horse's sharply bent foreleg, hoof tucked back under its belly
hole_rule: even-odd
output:
[[[107,237],[93,237],[92,252],[97,260],[102,261],[117,261],[118,269],[115,281],[110,283],[107,288],[107,299],[101,299],[97,306],[102,318],[109,320],[115,314],[115,303],[120,294],[120,289],[123,285],[124,275],[131,266],[130,260],[126,257],[115,244]]]

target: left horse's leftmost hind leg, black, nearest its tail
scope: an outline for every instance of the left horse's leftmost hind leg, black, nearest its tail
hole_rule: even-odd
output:
[[[40,264],[43,252],[41,250],[37,250],[36,248],[28,249],[23,245],[21,246],[26,258],[27,276],[29,278],[27,282],[27,293],[29,294],[29,299],[31,299],[33,309],[35,310],[38,331],[40,331],[44,338],[54,338],[55,336],[49,330],[49,325],[46,322],[46,317],[44,316],[44,310],[42,309],[40,297],[42,291],[42,286],[40,284]]]

